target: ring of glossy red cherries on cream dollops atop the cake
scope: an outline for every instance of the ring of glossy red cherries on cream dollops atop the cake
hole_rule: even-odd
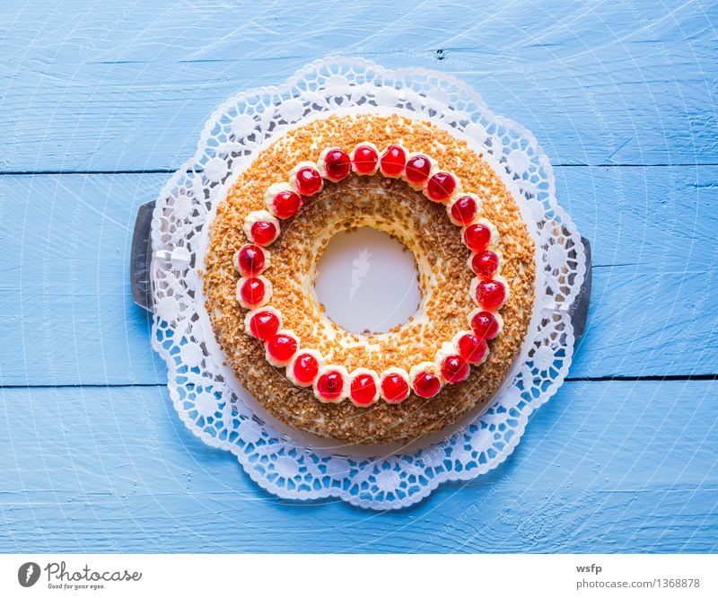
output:
[[[446,206],[453,224],[461,227],[462,241],[471,251],[468,267],[474,272],[469,293],[477,309],[468,314],[469,330],[458,332],[437,352],[434,362],[423,362],[410,372],[390,367],[381,375],[367,368],[349,374],[343,365],[325,364],[320,352],[300,347],[292,330],[283,327],[282,314],[267,305],[272,296],[271,282],[262,274],[269,268],[267,249],[280,234],[280,220],[297,215],[306,198],[316,195],[325,181],[337,183],[351,172],[402,179],[425,197]],[[508,298],[508,286],[498,276],[501,254],[495,250],[498,234],[495,226],[481,218],[481,202],[473,193],[460,190],[460,180],[442,171],[428,155],[410,153],[402,145],[389,145],[380,151],[364,142],[347,153],[338,147],[321,152],[319,160],[298,163],[288,182],[270,185],[265,194],[266,209],[251,212],[243,230],[249,242],[234,254],[234,267],[241,277],[237,282],[237,301],[249,312],[245,330],[264,343],[267,361],[285,367],[287,377],[299,386],[312,387],[323,402],[349,399],[367,407],[380,398],[399,403],[414,391],[423,398],[433,397],[445,383],[461,383],[468,378],[469,365],[479,365],[488,355],[487,340],[495,339],[503,328],[498,313]],[[489,249],[489,248],[493,249]]]

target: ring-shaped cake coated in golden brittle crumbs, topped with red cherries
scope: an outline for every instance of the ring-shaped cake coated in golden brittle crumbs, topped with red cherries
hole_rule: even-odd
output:
[[[329,240],[371,226],[416,257],[421,302],[388,332],[324,313]],[[291,427],[346,444],[407,441],[488,406],[521,351],[534,243],[503,181],[429,122],[330,116],[278,138],[210,229],[204,287],[241,384]]]

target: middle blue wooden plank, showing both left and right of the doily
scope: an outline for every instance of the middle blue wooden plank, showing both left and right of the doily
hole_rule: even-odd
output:
[[[167,177],[0,177],[4,385],[164,382],[128,264],[136,208]],[[716,167],[557,169],[597,266],[572,375],[718,374],[717,179]]]

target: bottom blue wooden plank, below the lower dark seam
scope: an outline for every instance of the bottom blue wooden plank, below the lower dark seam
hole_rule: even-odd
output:
[[[4,389],[0,551],[714,551],[716,382],[566,383],[499,470],[374,514],[279,500],[161,388]]]

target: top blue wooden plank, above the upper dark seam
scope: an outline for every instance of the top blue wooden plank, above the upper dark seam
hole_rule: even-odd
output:
[[[225,98],[337,51],[460,76],[554,163],[718,163],[714,3],[56,4],[0,6],[3,171],[175,168]]]

